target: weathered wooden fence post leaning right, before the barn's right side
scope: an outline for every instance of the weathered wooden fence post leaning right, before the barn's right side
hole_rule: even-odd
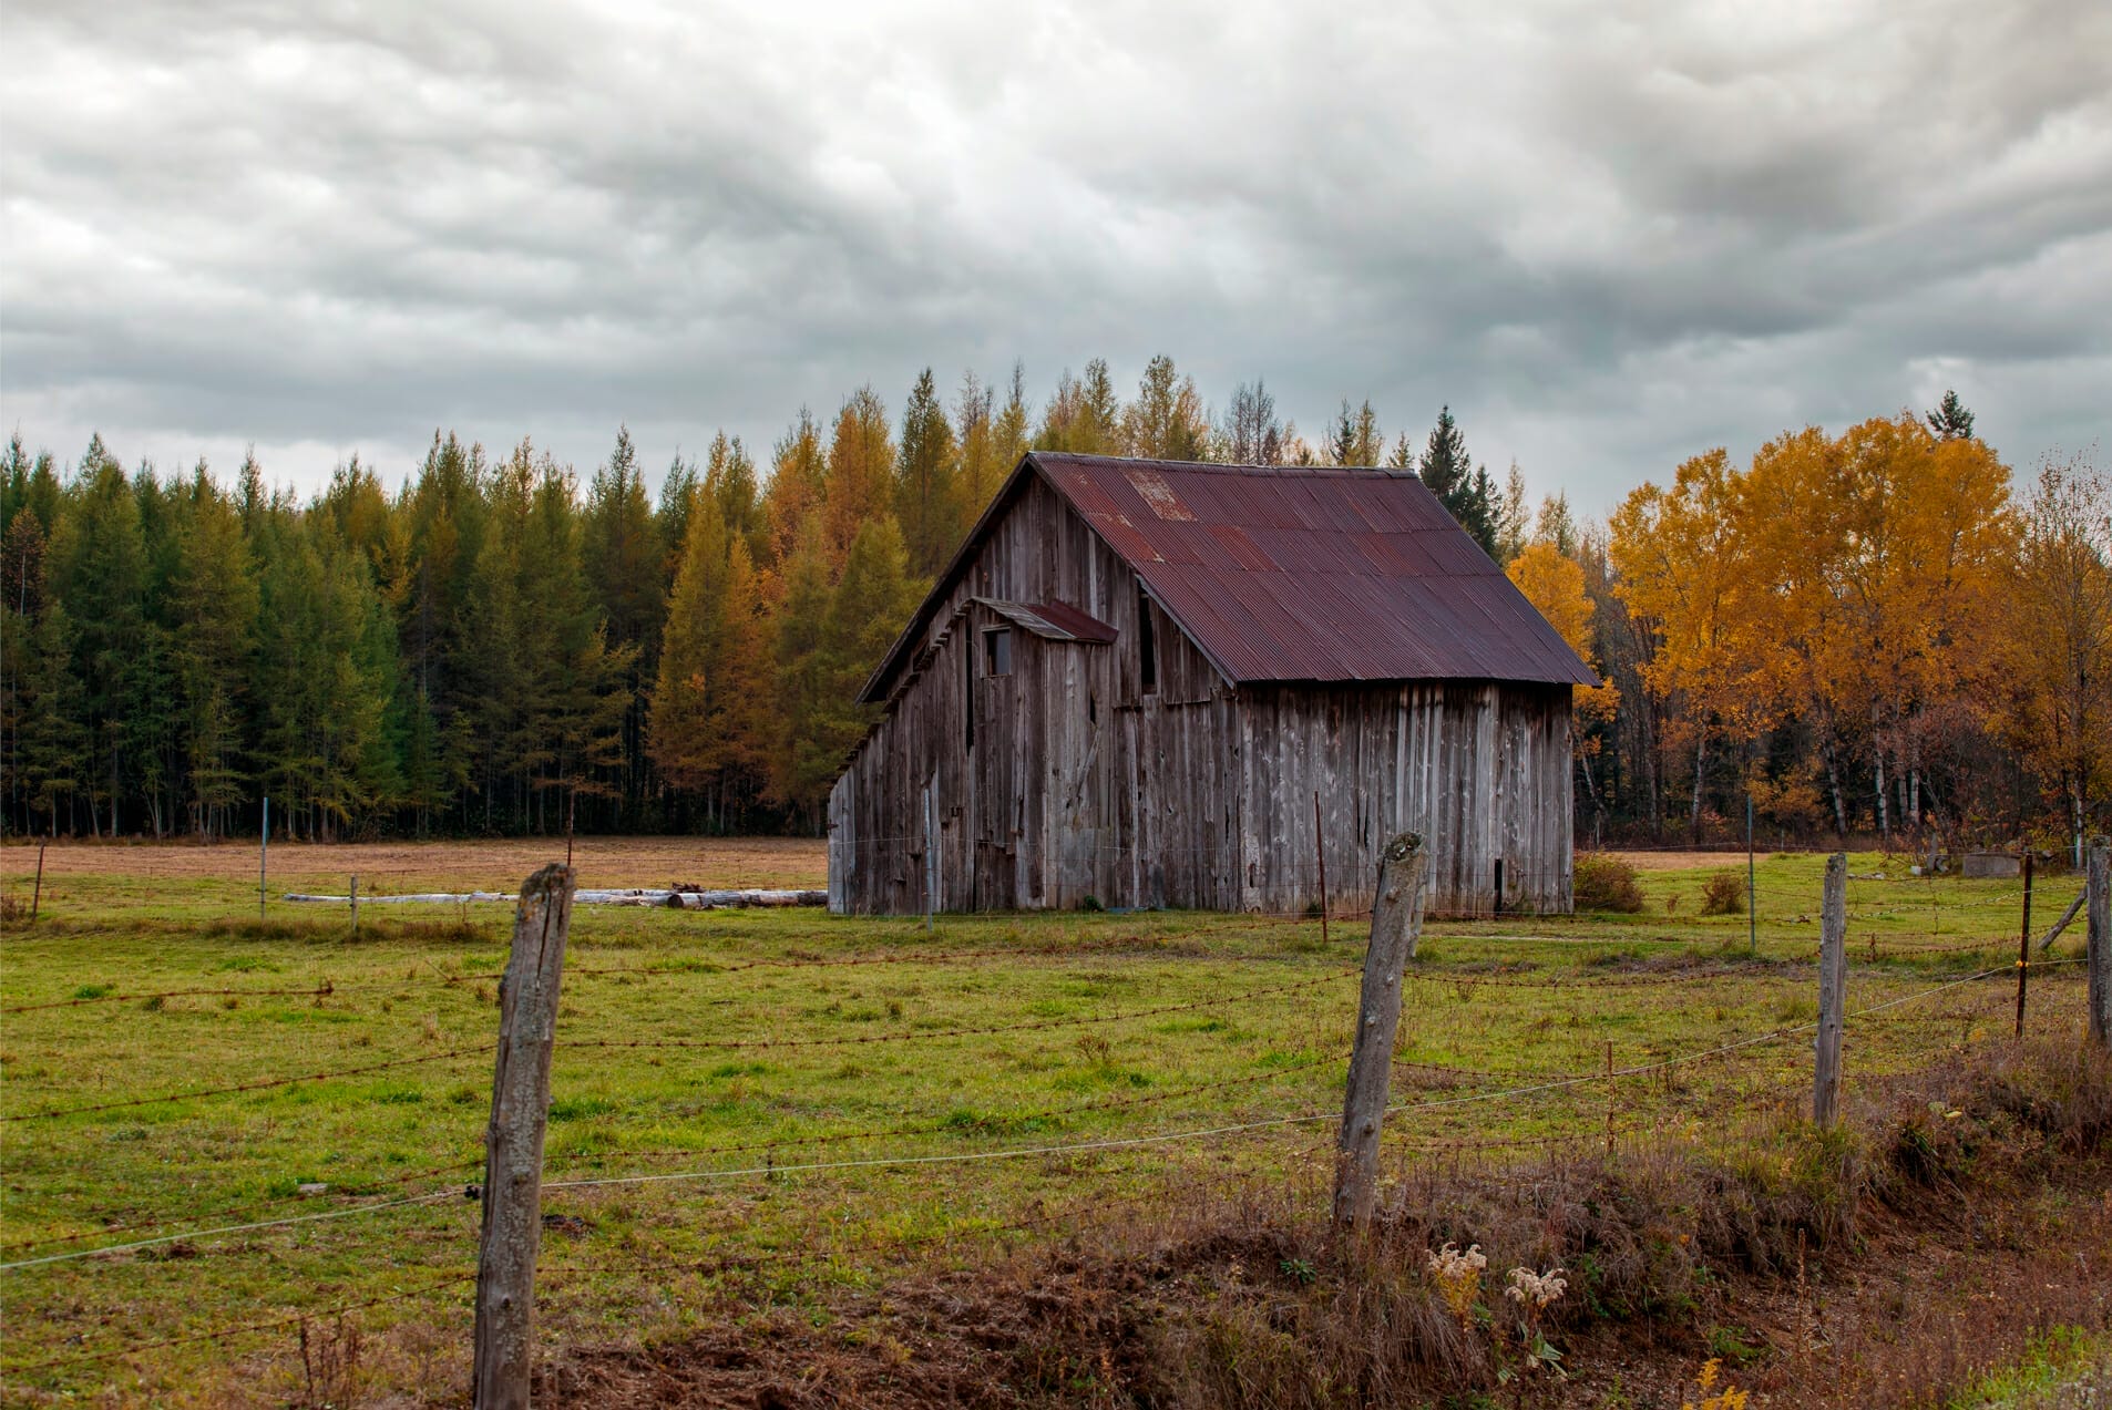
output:
[[[1364,950],[1335,1152],[1335,1220],[1341,1224],[1369,1222],[1379,1199],[1379,1125],[1394,1074],[1394,1034],[1400,1032],[1400,973],[1415,958],[1423,929],[1428,865],[1423,840],[1413,832],[1402,832],[1379,853],[1379,893],[1371,903],[1371,948]]]

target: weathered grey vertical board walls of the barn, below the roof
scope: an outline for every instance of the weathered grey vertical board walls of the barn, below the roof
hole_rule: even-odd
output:
[[[1153,614],[1143,692],[1136,574],[1043,481],[1024,485],[934,616],[887,713],[828,804],[830,908],[925,910],[925,794],[938,910],[1174,906],[1303,912],[1318,836],[1333,906],[1371,906],[1377,853],[1430,846],[1430,910],[1571,906],[1569,688],[1409,682],[1233,690]],[[1012,627],[984,673],[976,597],[1069,602],[1113,644]],[[974,747],[967,722],[974,718]]]

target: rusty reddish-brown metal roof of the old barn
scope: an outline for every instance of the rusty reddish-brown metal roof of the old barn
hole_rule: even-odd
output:
[[[1033,475],[1130,564],[1233,684],[1599,684],[1409,473],[1033,452],[969,530],[862,701],[887,697],[912,642]]]

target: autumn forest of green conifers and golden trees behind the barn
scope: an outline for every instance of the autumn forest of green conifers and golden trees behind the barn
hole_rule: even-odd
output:
[[[2112,821],[2112,488],[2019,477],[1954,397],[1785,431],[1645,481],[1605,521],[1470,458],[1449,407],[1312,439],[1265,384],[1212,412],[1172,359],[1031,401],[1020,367],[900,418],[870,388],[769,452],[646,490],[435,433],[391,488],[310,498],[247,458],[0,464],[0,827],[287,838],[813,832],[860,684],[1031,447],[1417,473],[1603,675],[1576,701],[1580,838],[2032,840]],[[1559,479],[1559,466],[1546,471]]]

